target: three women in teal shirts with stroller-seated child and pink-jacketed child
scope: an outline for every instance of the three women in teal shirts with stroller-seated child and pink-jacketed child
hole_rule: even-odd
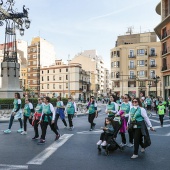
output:
[[[133,96],[131,99],[128,94],[121,97],[121,101],[117,96],[111,95],[108,104],[106,105],[105,127],[102,127],[103,133],[100,136],[100,140],[97,145],[105,147],[109,136],[113,135],[114,128],[113,121],[120,121],[121,126],[119,133],[121,134],[121,147],[134,146],[134,152],[132,159],[138,157],[139,145],[141,146],[141,152],[145,152],[145,148],[151,144],[149,133],[146,124],[151,131],[154,131],[152,124],[147,116],[146,110],[142,107],[142,103],[139,98]],[[146,123],[146,124],[145,124]],[[127,144],[125,132],[128,131],[129,144]],[[144,139],[143,139],[144,138]]]

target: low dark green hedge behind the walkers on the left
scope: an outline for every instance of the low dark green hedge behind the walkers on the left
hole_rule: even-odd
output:
[[[29,98],[30,102],[33,104],[34,107],[36,107],[37,103],[38,103],[38,98]],[[25,98],[21,99],[22,101],[22,108],[24,107],[24,103],[25,103]],[[64,105],[67,104],[68,99],[66,98],[62,98],[62,101],[64,103]],[[14,99],[2,99],[0,98],[0,109],[13,109],[13,102]],[[51,98],[50,103],[55,107],[56,106],[56,102],[57,99],[56,98]]]

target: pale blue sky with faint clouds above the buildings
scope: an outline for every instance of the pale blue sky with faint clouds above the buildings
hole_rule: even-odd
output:
[[[5,0],[4,0],[5,2]],[[153,31],[161,17],[160,0],[15,0],[18,12],[29,8],[31,26],[17,38],[31,43],[40,36],[54,45],[56,58],[66,61],[84,50],[96,49],[110,69],[110,49],[128,27],[133,33]],[[4,43],[0,27],[0,43]]]

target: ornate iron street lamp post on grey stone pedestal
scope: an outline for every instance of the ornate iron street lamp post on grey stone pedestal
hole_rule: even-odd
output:
[[[17,91],[22,93],[19,83],[19,69],[17,57],[17,41],[16,29],[20,31],[20,35],[24,35],[24,28],[30,27],[31,21],[28,18],[28,8],[23,5],[23,11],[17,12],[14,7],[14,0],[1,0],[0,2],[0,26],[5,25],[5,43],[4,43],[4,56],[1,63],[1,77],[2,87],[0,89],[1,97],[11,98],[13,92]],[[9,86],[9,85],[13,86]]]

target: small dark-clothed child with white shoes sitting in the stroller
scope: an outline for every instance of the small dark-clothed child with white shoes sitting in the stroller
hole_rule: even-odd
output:
[[[107,145],[107,140],[109,136],[112,136],[114,133],[113,129],[113,120],[112,118],[107,117],[105,119],[105,127],[102,127],[103,131],[100,135],[100,140],[97,142],[98,147],[101,146],[106,146]]]

